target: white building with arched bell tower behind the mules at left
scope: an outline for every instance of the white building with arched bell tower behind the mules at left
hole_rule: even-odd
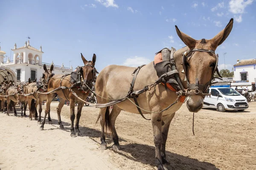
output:
[[[51,67],[51,64],[54,65],[53,61],[51,64],[42,62],[42,46],[40,49],[32,47],[28,42],[25,42],[25,45],[17,48],[15,43],[13,51],[13,61],[10,61],[8,58],[6,62],[3,62],[4,51],[0,51],[0,63],[1,65],[8,66],[11,68],[17,76],[17,82],[26,82],[30,78],[31,80],[39,80],[44,72],[43,65],[46,64],[47,68]],[[54,74],[70,74],[73,71],[73,68],[64,67],[63,63],[61,66],[54,65],[52,73]]]

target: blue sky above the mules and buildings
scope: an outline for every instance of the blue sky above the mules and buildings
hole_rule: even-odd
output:
[[[14,43],[42,45],[43,62],[83,65],[80,53],[96,68],[138,66],[165,47],[182,48],[175,31],[211,39],[234,17],[233,30],[217,48],[219,67],[255,58],[256,2],[253,0],[0,0],[0,42],[6,55]],[[13,53],[12,57],[13,58]],[[5,59],[6,61],[6,59]]]

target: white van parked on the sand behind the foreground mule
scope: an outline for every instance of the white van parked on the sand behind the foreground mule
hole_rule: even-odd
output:
[[[204,108],[216,108],[217,111],[244,111],[249,107],[247,99],[233,88],[209,88],[210,96],[204,98]]]

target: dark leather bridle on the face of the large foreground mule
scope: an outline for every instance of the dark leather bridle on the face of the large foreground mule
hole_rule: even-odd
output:
[[[195,84],[189,84],[189,79],[187,77],[186,59],[188,58],[187,56],[190,53],[192,53],[192,54],[189,57],[192,57],[193,54],[195,53],[195,51],[212,53],[212,54],[214,54],[216,56],[215,68],[213,69],[212,76],[211,76],[209,82],[207,82],[206,85],[199,84],[198,78],[195,79]],[[183,53],[183,59],[182,60],[183,60],[182,61],[182,66],[183,66],[183,70],[184,70],[185,77],[186,77],[186,80],[187,80],[187,92],[186,92],[186,94],[189,94],[189,95],[199,95],[199,96],[202,96],[203,99],[204,99],[205,96],[209,95],[209,94],[206,94],[206,92],[207,92],[207,89],[212,85],[212,79],[215,78],[214,77],[215,72],[217,72],[218,76],[221,77],[221,75],[220,75],[220,73],[218,71],[218,54],[215,54],[215,51],[213,51],[213,50],[194,48],[194,49],[190,50],[189,52],[185,51]],[[190,91],[190,90],[193,90],[193,91]]]

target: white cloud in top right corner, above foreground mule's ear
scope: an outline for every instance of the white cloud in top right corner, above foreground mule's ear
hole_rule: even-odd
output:
[[[243,14],[244,8],[253,3],[253,0],[230,0],[229,11],[233,14]]]

